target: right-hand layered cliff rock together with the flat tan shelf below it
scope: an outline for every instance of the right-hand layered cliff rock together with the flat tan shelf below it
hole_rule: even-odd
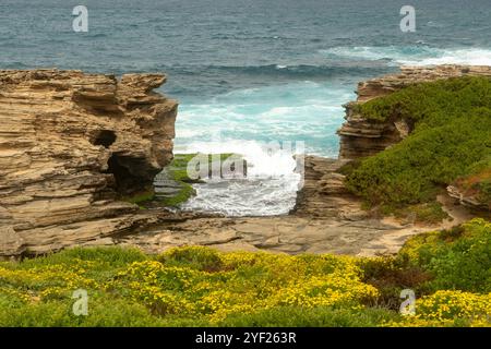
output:
[[[478,68],[403,69],[390,75],[360,84],[363,103],[407,84],[435,76],[483,72]],[[426,77],[424,77],[426,76]],[[450,228],[469,217],[457,209],[453,200],[442,196],[450,219],[439,226],[418,226],[414,217],[396,220],[371,215],[359,197],[345,188],[339,171],[351,158],[368,156],[399,142],[411,131],[404,120],[372,123],[352,112],[348,105],[347,122],[340,130],[339,159],[304,157],[303,188],[298,192],[295,209],[279,217],[182,217],[169,216],[152,229],[141,229],[123,237],[107,239],[105,244],[137,246],[148,253],[159,253],[172,246],[209,245],[223,251],[272,251],[282,253],[335,253],[360,256],[396,253],[414,234]],[[446,209],[445,209],[446,210]]]

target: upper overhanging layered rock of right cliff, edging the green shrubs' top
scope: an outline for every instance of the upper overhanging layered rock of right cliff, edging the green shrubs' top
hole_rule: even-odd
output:
[[[345,106],[346,122],[338,130],[339,158],[356,159],[374,155],[400,142],[411,132],[410,122],[400,118],[394,118],[386,122],[367,120],[356,111],[356,105],[388,95],[412,84],[465,75],[491,76],[491,67],[403,67],[400,73],[359,83],[358,98]]]

